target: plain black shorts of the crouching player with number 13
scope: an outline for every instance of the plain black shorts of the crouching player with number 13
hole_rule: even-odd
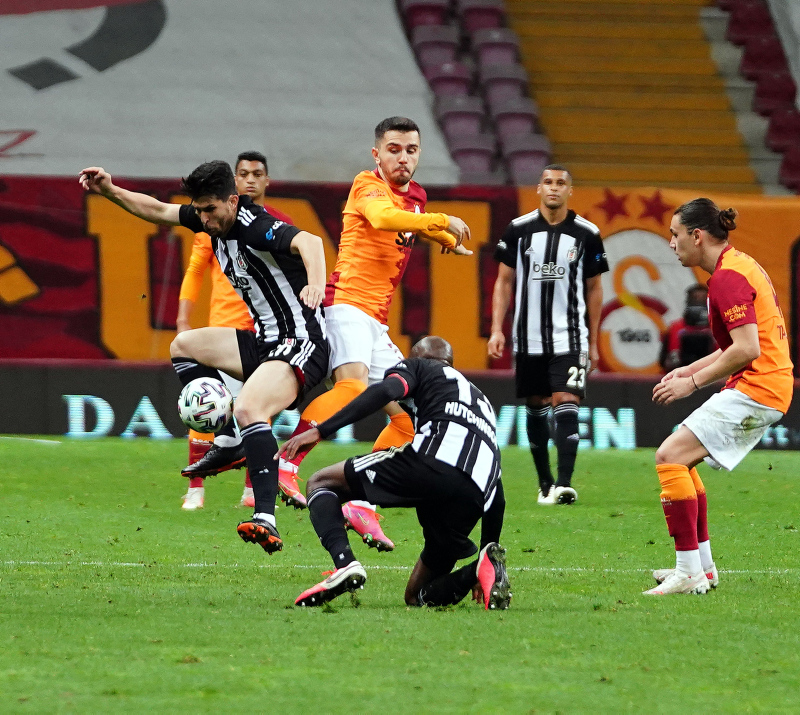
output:
[[[483,493],[460,469],[405,444],[348,459],[344,474],[354,499],[416,508],[425,539],[420,558],[428,568],[449,572],[477,553],[469,535],[483,516]]]

